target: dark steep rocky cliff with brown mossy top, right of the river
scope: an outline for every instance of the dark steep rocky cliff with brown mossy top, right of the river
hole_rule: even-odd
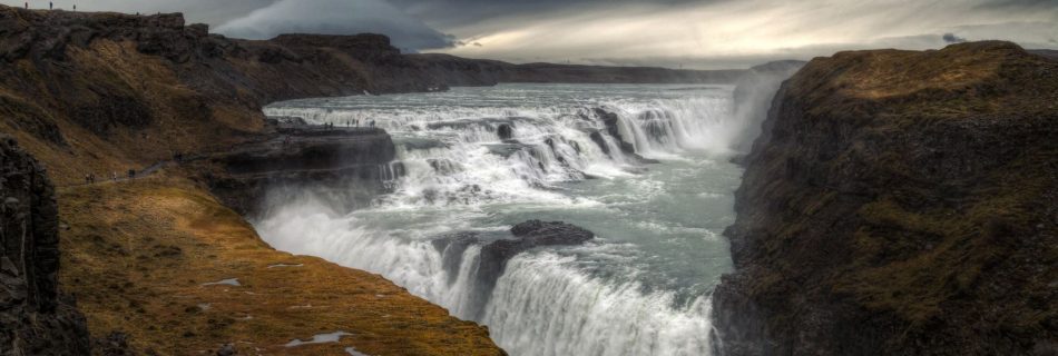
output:
[[[840,52],[763,128],[714,294],[727,355],[1058,352],[1058,61]]]

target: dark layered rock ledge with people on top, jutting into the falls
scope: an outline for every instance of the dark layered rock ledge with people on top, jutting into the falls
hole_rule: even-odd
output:
[[[306,191],[326,190],[342,211],[368,204],[402,175],[393,140],[376,128],[281,128],[261,140],[215,154],[204,162],[204,180],[226,206],[257,216],[268,201],[288,201]]]

